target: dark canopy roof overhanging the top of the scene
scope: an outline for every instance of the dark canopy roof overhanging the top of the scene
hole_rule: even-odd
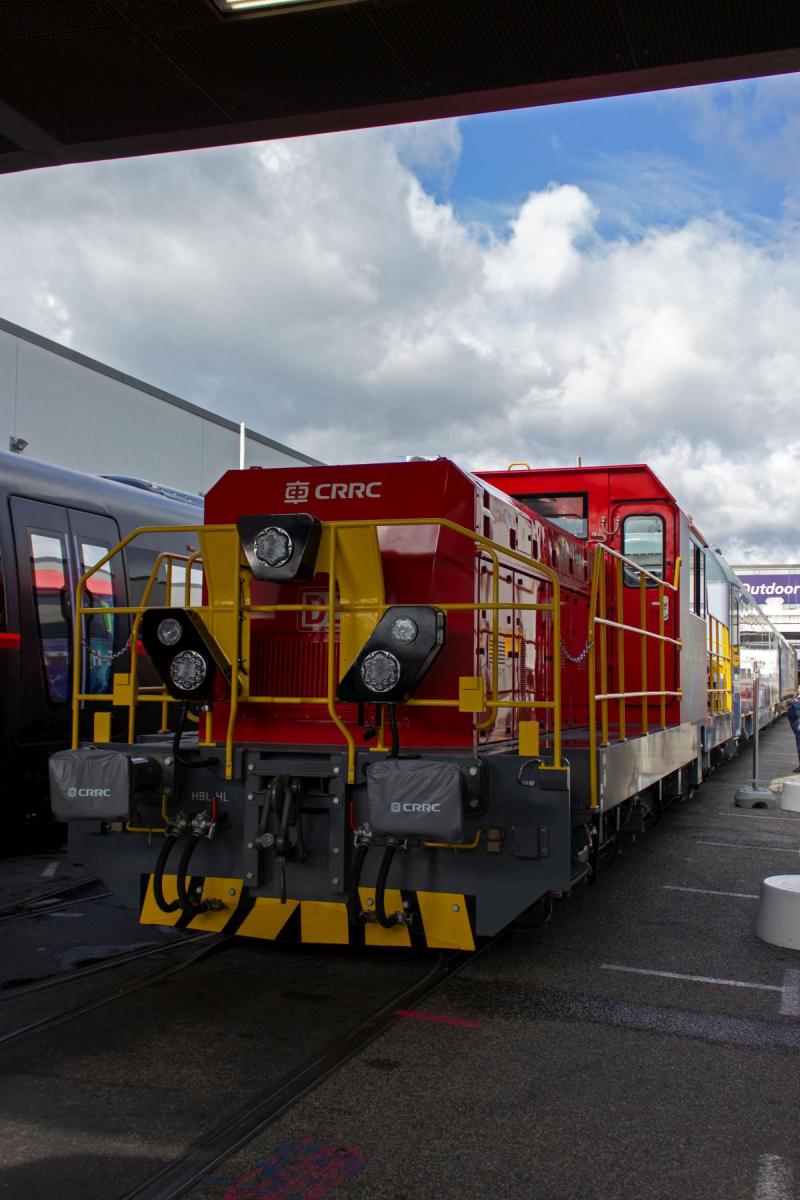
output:
[[[0,172],[796,70],[798,0],[2,0]]]

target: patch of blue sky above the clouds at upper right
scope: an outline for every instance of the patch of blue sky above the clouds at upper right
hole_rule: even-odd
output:
[[[423,178],[467,218],[500,223],[530,191],[569,181],[603,204],[606,233],[710,208],[758,226],[796,196],[800,77],[488,113],[461,134],[452,178]],[[627,203],[603,203],[620,190]]]

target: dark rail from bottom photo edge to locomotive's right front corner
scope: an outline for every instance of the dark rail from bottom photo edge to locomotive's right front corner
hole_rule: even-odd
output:
[[[486,953],[497,944],[501,936],[492,938],[476,953]],[[344,1033],[276,1084],[257,1093],[216,1129],[200,1135],[185,1154],[166,1164],[144,1183],[121,1196],[120,1200],[176,1200],[200,1176],[213,1170],[261,1129],[277,1121],[293,1104],[318,1087],[329,1075],[332,1075],[335,1070],[390,1028],[398,1020],[398,1010],[419,1003],[465,962],[474,962],[475,958],[475,953],[468,954],[463,950],[440,954],[435,965],[422,979],[404,989],[392,1000],[384,1002],[349,1033]]]

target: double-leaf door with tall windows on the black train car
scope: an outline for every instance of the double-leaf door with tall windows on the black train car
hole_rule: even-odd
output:
[[[112,517],[11,497],[20,611],[20,690],[17,737],[23,745],[66,743],[71,733],[74,653],[72,596],[83,571],[120,540]],[[119,562],[92,587],[95,607],[125,605]],[[110,691],[112,655],[125,644],[120,619],[86,618],[82,688]]]

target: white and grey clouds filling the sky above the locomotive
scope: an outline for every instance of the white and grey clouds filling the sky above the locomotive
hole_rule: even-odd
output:
[[[5,176],[0,312],[327,461],[646,461],[723,548],[798,558],[798,226],[694,196],[610,234],[634,175],[468,223],[423,181],[459,152],[440,122]]]

